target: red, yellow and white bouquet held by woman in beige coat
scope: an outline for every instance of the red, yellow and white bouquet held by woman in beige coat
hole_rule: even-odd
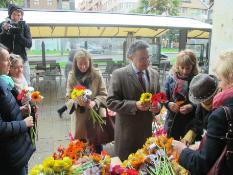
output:
[[[81,104],[88,103],[91,95],[92,91],[90,89],[87,89],[86,87],[80,85],[75,86],[71,92],[71,98],[73,100],[77,100],[78,103]],[[102,128],[102,125],[106,124],[103,118],[95,111],[95,109],[90,108],[89,111],[93,125],[97,122],[97,124]]]

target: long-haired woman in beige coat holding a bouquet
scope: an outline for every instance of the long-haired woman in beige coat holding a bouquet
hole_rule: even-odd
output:
[[[77,85],[85,86],[92,91],[87,103],[77,103],[71,99],[71,92]],[[75,53],[73,68],[68,75],[66,97],[68,109],[75,106],[75,113],[71,118],[71,129],[74,138],[92,140],[95,137],[95,131],[89,109],[100,109],[101,103],[105,103],[107,89],[101,73],[92,66],[91,55],[84,49],[80,49]],[[102,149],[101,145],[95,145],[95,147],[97,152]]]

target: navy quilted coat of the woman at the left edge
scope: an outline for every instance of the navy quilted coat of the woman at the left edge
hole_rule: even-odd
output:
[[[34,151],[19,105],[0,80],[0,169],[25,166]]]

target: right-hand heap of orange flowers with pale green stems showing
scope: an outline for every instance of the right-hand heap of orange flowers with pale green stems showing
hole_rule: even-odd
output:
[[[142,149],[130,154],[120,167],[113,167],[113,173],[187,175],[188,171],[178,164],[179,155],[172,148],[172,140],[164,133],[148,138]]]

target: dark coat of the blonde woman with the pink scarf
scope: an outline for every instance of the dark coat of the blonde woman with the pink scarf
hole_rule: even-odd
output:
[[[225,102],[224,106],[230,107],[233,111],[233,98]],[[185,148],[180,155],[180,164],[193,174],[207,174],[226,145],[226,132],[225,111],[223,108],[218,108],[208,118],[207,137],[202,148],[198,151]],[[224,172],[224,175],[227,174],[229,173]]]

